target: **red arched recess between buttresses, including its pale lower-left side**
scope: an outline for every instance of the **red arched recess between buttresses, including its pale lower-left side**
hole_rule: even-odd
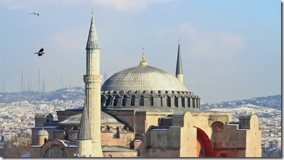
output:
[[[197,155],[198,157],[213,157],[211,141],[200,128],[197,128]]]

